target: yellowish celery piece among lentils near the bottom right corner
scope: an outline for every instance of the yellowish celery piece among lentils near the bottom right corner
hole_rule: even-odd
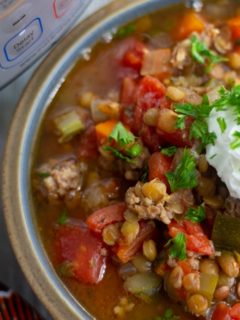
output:
[[[200,291],[209,301],[212,301],[218,283],[218,275],[200,273]]]

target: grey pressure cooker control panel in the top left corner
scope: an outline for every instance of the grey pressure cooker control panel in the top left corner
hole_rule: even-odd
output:
[[[0,0],[0,89],[45,53],[90,0]]]

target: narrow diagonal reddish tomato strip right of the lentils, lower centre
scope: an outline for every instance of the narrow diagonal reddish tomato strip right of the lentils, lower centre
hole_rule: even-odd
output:
[[[130,261],[136,253],[141,249],[142,244],[145,240],[150,239],[154,236],[155,226],[153,223],[143,222],[140,227],[140,231],[136,239],[127,244],[124,241],[119,242],[117,247],[116,254],[122,263],[127,263]]]

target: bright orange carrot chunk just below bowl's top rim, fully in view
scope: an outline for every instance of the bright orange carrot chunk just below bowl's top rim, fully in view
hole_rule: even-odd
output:
[[[194,11],[188,11],[174,29],[173,36],[176,40],[187,38],[193,32],[202,32],[205,21]]]

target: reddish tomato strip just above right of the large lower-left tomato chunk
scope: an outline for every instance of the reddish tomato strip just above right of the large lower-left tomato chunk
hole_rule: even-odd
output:
[[[123,213],[125,210],[125,202],[119,202],[109,207],[99,209],[87,218],[87,225],[92,231],[101,233],[107,225],[123,221]]]

